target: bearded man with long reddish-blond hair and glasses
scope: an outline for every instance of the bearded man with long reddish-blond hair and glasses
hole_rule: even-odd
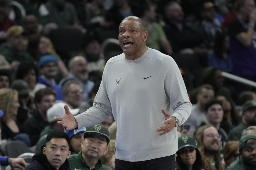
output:
[[[195,137],[202,155],[203,168],[224,170],[219,154],[221,135],[217,129],[212,125],[204,125],[198,129]]]

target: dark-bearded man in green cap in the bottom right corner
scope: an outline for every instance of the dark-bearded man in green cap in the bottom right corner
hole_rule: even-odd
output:
[[[256,135],[242,136],[239,141],[239,158],[226,170],[255,170],[256,169]]]

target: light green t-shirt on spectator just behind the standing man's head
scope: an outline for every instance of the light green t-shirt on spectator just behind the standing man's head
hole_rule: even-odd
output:
[[[166,37],[163,28],[156,22],[152,23],[148,30],[147,47],[161,51],[160,39],[162,37]]]

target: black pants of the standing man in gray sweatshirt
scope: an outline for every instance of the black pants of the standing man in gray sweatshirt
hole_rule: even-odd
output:
[[[174,170],[175,154],[151,160],[128,162],[116,159],[115,170]]]

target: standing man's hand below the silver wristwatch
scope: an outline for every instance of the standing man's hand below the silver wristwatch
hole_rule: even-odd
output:
[[[164,108],[162,108],[162,113],[165,115],[165,121],[162,122],[163,126],[156,129],[156,132],[161,132],[157,136],[170,132],[176,126],[176,120]]]

